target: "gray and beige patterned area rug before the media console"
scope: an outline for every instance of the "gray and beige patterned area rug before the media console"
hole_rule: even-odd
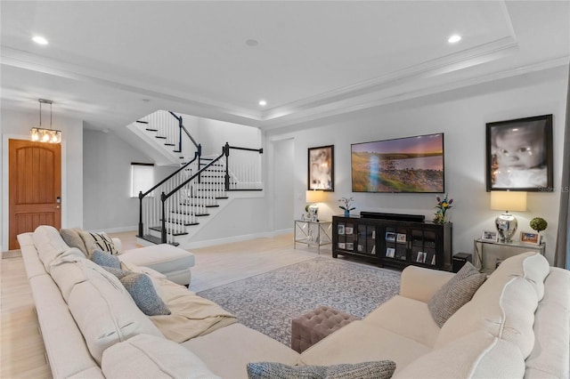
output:
[[[291,319],[328,305],[364,317],[400,290],[400,271],[315,258],[198,294],[290,346]]]

